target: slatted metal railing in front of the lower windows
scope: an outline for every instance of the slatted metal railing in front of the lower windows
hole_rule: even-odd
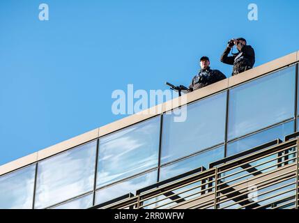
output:
[[[297,209],[299,138],[269,145],[208,170],[201,167],[151,185],[133,197],[98,208]]]

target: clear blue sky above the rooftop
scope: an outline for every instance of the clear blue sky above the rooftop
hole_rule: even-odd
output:
[[[0,1],[0,165],[123,118],[111,96],[127,84],[188,86],[203,55],[230,77],[230,38],[247,39],[255,66],[295,52],[298,12],[296,0]]]

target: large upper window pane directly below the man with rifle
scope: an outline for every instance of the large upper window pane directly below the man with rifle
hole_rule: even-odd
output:
[[[224,142],[227,93],[187,106],[185,122],[163,116],[161,162],[169,162]]]

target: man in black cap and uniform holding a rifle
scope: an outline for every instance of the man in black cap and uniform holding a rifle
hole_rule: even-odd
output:
[[[201,70],[199,74],[193,77],[192,82],[189,86],[188,92],[201,89],[204,86],[208,86],[215,82],[219,82],[222,79],[226,79],[225,75],[219,70],[210,69],[210,60],[207,56],[203,56],[200,59]]]

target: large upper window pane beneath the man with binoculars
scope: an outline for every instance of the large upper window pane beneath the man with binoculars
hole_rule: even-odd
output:
[[[295,73],[292,66],[231,89],[229,140],[294,116]]]

